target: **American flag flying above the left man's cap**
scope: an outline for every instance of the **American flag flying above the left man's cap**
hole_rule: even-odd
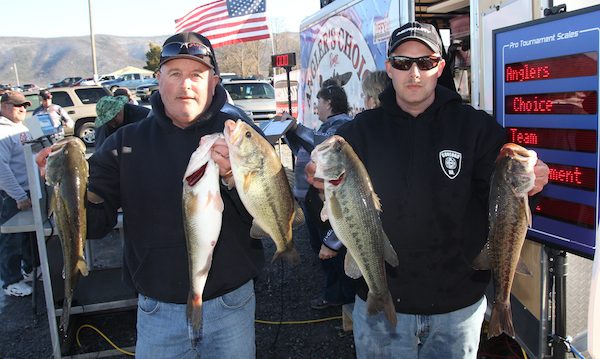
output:
[[[175,20],[175,32],[194,31],[213,47],[268,39],[266,0],[217,0]]]

